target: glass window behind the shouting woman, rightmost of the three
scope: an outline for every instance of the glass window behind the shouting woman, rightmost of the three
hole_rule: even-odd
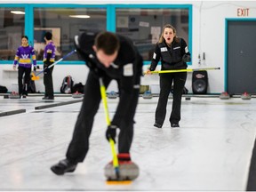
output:
[[[151,60],[165,24],[188,44],[188,9],[116,9],[116,33],[132,38],[144,60]]]

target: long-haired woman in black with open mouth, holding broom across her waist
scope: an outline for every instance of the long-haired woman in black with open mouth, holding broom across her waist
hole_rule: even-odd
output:
[[[151,61],[150,71],[156,69],[158,61],[161,60],[161,70],[186,69],[190,61],[190,53],[184,39],[176,36],[176,29],[172,25],[165,25],[162,35],[156,44],[156,49]],[[156,108],[155,124],[157,128],[162,128],[166,115],[166,105],[173,82],[173,101],[170,122],[172,127],[180,127],[180,106],[181,96],[187,79],[187,72],[163,73],[160,74],[160,95]]]

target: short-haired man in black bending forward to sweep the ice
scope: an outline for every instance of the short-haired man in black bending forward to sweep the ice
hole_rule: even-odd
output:
[[[87,32],[75,37],[76,51],[90,68],[84,85],[84,101],[77,117],[73,138],[68,146],[66,159],[52,165],[52,172],[61,175],[74,172],[76,164],[84,161],[89,149],[94,116],[100,105],[100,83],[103,78],[106,87],[116,80],[119,89],[119,103],[116,114],[108,126],[106,137],[116,139],[118,135],[118,160],[131,161],[130,148],[133,137],[133,117],[140,93],[140,76],[143,60],[132,44],[132,40],[110,32],[99,34]]]

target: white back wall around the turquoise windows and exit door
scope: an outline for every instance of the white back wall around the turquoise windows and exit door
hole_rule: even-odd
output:
[[[47,1],[46,1],[47,2]],[[50,1],[49,1],[50,2]],[[34,1],[14,1],[2,0],[3,4],[11,3],[33,3]],[[45,4],[45,0],[37,0],[38,4]],[[84,1],[84,0],[55,0],[54,4],[145,4],[144,1],[131,1],[131,0],[121,0],[121,1]],[[156,1],[149,0],[147,4],[156,4]],[[193,5],[193,29],[192,29],[192,66],[189,68],[209,68],[209,67],[220,67],[220,70],[208,71],[209,75],[209,93],[220,93],[224,91],[225,85],[225,19],[249,19],[256,18],[256,3],[253,1],[170,1],[170,0],[160,0],[157,4],[192,4]],[[238,8],[249,8],[249,16],[238,17]],[[179,31],[178,36],[179,36]],[[241,38],[246,36],[246,34],[241,34]],[[240,38],[240,36],[237,36]],[[198,54],[203,58],[203,52],[205,53],[204,62],[198,64]],[[2,65],[4,66],[4,65]],[[1,66],[1,69],[2,69]],[[4,66],[5,68],[6,66]],[[7,66],[8,67],[8,66]],[[146,70],[148,66],[145,66]],[[10,67],[11,68],[11,67]],[[54,90],[55,92],[60,92],[60,84],[62,79],[67,74],[74,76],[76,82],[82,82],[84,84],[87,69],[83,65],[63,65],[56,66],[53,73],[54,78]],[[9,76],[9,75],[8,75]],[[8,77],[6,72],[0,71],[0,82],[9,88],[12,84],[13,76]],[[189,92],[192,92],[191,88],[191,73],[188,74],[188,80],[186,87]],[[145,76],[142,78],[142,84],[158,84],[158,76]],[[36,86],[40,91],[44,91],[44,85],[41,82],[36,83]],[[108,90],[116,90],[116,85],[112,84]]]

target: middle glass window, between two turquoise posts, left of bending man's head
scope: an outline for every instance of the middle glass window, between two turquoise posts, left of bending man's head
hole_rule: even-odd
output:
[[[52,32],[57,47],[56,60],[75,49],[74,36],[85,30],[106,30],[105,8],[36,8],[34,10],[34,47],[36,60],[44,54],[44,33]],[[67,60],[78,60],[73,54]]]

